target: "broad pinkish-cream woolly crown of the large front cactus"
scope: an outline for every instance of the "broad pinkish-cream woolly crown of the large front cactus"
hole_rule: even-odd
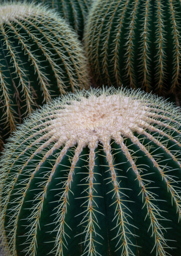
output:
[[[49,128],[53,137],[61,141],[70,139],[89,143],[129,135],[143,122],[145,113],[144,103],[130,97],[119,94],[92,96],[72,101],[60,109]]]

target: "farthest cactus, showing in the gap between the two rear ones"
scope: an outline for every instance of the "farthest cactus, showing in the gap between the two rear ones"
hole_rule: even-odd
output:
[[[29,0],[32,2],[32,0]],[[56,9],[62,17],[73,27],[82,39],[84,25],[92,0],[34,0]]]

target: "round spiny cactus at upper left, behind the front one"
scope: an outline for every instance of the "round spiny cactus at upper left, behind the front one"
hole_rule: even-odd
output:
[[[53,10],[21,2],[1,4],[2,137],[38,105],[88,86],[86,65],[76,33]]]

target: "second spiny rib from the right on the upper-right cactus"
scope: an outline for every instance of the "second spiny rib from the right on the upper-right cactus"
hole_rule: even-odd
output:
[[[157,18],[156,21],[156,45],[157,45],[157,54],[155,57],[157,57],[156,63],[157,65],[155,68],[157,69],[157,72],[155,73],[155,81],[156,83],[156,89],[159,93],[163,92],[165,93],[165,80],[166,80],[166,63],[165,63],[165,29],[164,29],[164,21],[163,19],[165,18],[164,16],[164,9],[163,5],[161,4],[161,0],[156,1],[156,6],[155,6],[155,12],[156,15],[155,17]]]

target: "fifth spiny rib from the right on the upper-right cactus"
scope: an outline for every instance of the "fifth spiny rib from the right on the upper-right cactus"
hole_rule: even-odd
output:
[[[122,1],[121,1],[122,2]],[[119,45],[120,45],[120,35],[121,35],[121,29],[122,29],[122,25],[123,25],[123,21],[124,21],[124,18],[125,18],[125,12],[126,12],[126,8],[130,2],[130,0],[124,0],[124,5],[122,7],[122,10],[121,10],[121,17],[120,19],[118,19],[118,22],[119,22],[119,26],[117,27],[117,35],[115,37],[115,39],[113,40],[113,43],[115,42],[115,46],[113,48],[113,52],[114,52],[114,56],[112,58],[111,61],[114,62],[114,74],[115,74],[115,77],[116,77],[116,80],[117,80],[117,84],[118,85],[121,85],[121,79],[120,79],[120,76],[119,76],[119,55],[118,55],[118,48],[119,48]]]

